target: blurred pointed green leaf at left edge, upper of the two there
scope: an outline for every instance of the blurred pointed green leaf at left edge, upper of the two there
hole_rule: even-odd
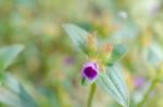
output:
[[[21,44],[0,48],[0,70],[7,69],[23,49]]]

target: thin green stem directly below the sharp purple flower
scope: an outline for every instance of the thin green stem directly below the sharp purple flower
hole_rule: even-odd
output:
[[[91,107],[92,99],[93,99],[93,96],[95,96],[95,92],[96,92],[96,83],[92,83],[91,88],[90,88],[88,101],[87,101],[87,107]]]

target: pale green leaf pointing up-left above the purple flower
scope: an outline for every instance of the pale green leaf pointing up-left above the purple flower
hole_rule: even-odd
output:
[[[71,37],[72,41],[74,42],[75,48],[79,52],[87,53],[86,44],[87,44],[88,32],[73,24],[64,24],[63,28],[67,32],[67,35]]]

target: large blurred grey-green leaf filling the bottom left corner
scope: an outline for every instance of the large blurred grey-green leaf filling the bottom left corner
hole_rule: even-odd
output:
[[[38,107],[24,86],[10,73],[5,73],[0,88],[0,102],[10,107]]]

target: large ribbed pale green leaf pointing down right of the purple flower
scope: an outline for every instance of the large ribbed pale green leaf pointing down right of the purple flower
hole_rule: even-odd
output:
[[[118,104],[129,107],[129,94],[118,66],[108,67],[97,80],[98,85]]]

